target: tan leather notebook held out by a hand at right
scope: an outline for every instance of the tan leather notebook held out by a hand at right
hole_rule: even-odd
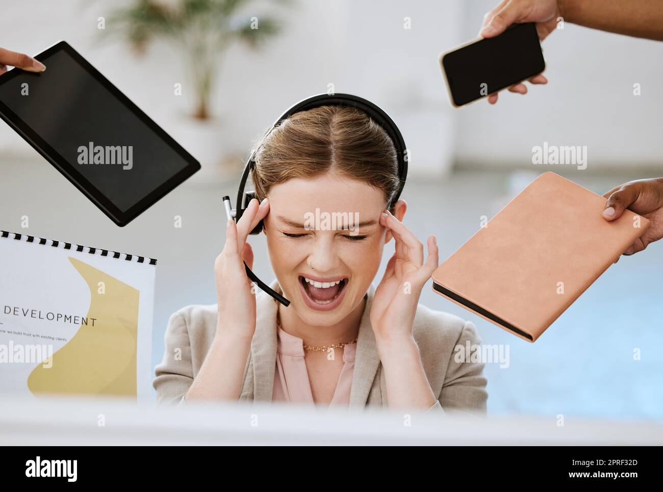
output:
[[[433,289],[534,342],[649,226],[552,172],[534,179],[434,271]]]

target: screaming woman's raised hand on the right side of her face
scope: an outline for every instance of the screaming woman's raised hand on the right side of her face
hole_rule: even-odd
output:
[[[424,263],[424,245],[402,222],[384,211],[380,224],[394,236],[396,252],[375,289],[371,326],[378,344],[389,344],[412,338],[421,290],[438,268],[438,244],[435,236],[428,238],[428,258]]]

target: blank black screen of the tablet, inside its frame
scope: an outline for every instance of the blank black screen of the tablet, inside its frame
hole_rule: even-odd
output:
[[[190,165],[164,141],[163,130],[155,130],[66,51],[40,61],[45,72],[19,71],[0,83],[0,101],[119,211]]]

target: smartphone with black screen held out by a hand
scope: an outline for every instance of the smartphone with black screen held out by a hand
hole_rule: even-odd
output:
[[[440,54],[450,102],[460,107],[538,75],[546,68],[534,23],[516,24]]]

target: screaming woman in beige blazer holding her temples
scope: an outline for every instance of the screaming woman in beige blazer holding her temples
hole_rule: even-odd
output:
[[[424,261],[402,223],[405,201],[385,210],[399,185],[387,132],[359,109],[317,107],[269,132],[255,163],[257,199],[237,224],[227,222],[215,261],[217,305],[170,317],[157,401],[485,413],[483,364],[453,357],[456,346],[481,342],[475,327],[418,304],[438,266],[436,238]],[[325,213],[345,213],[345,222],[307,222]],[[276,275],[270,287],[288,307],[254,295],[245,273],[243,262],[253,267],[246,238],[261,220]],[[395,253],[375,288],[392,238]]]

